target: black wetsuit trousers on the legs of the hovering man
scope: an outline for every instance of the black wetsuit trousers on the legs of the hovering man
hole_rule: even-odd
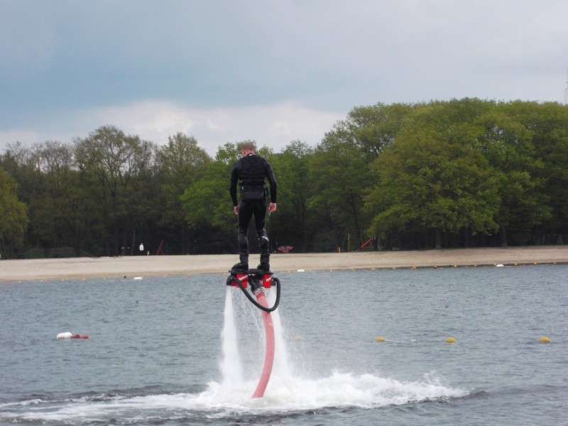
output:
[[[266,221],[266,203],[264,200],[241,200],[239,202],[238,239],[241,262],[249,263],[249,241],[246,238],[246,234],[253,216],[258,244],[261,246],[261,264],[268,265],[270,251],[268,248],[268,234],[266,234],[266,229],[264,229]]]

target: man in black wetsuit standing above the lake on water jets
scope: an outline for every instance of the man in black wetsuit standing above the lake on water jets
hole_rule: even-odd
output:
[[[261,246],[261,263],[258,269],[270,271],[270,248],[268,244],[268,234],[264,229],[266,220],[266,187],[265,179],[271,185],[271,202],[268,204],[268,213],[276,209],[276,179],[272,166],[264,158],[255,154],[256,146],[253,141],[246,141],[241,144],[242,157],[234,163],[231,169],[231,184],[229,193],[233,200],[234,212],[239,219],[239,263],[233,266],[234,272],[249,271],[249,241],[246,234],[249,223],[254,215],[256,226],[256,236]],[[241,187],[241,201],[237,202],[236,185]]]

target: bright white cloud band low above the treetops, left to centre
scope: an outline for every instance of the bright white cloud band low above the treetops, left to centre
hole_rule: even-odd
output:
[[[278,152],[295,140],[315,146],[335,122],[345,118],[347,112],[318,111],[295,102],[195,109],[168,101],[146,100],[56,117],[54,121],[61,123],[60,129],[0,132],[0,148],[14,141],[26,145],[47,140],[67,142],[76,137],[84,138],[100,126],[112,125],[158,145],[167,143],[168,136],[182,132],[194,136],[209,155],[214,155],[226,142],[245,139],[254,139],[259,146],[268,146]],[[69,133],[70,121],[72,129],[78,133]]]

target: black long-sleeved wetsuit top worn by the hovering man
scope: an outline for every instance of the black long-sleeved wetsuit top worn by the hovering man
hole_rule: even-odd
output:
[[[246,155],[234,163],[231,169],[231,185],[229,186],[229,193],[233,205],[239,204],[236,199],[236,185],[241,185],[241,197],[247,198],[247,194],[260,194],[264,199],[264,180],[268,179],[271,184],[271,202],[276,202],[276,178],[272,170],[271,163],[268,163],[264,158],[255,154]],[[253,196],[253,198],[256,198]]]

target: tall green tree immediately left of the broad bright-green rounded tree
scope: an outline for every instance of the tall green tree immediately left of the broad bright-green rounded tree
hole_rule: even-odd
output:
[[[414,108],[381,103],[356,107],[317,146],[307,178],[308,206],[310,213],[318,217],[317,222],[334,232],[334,246],[342,244],[346,234],[353,241],[351,247],[369,237],[364,232],[370,217],[362,207],[364,194],[371,186],[370,165],[393,143]],[[322,230],[322,234],[327,233]]]

